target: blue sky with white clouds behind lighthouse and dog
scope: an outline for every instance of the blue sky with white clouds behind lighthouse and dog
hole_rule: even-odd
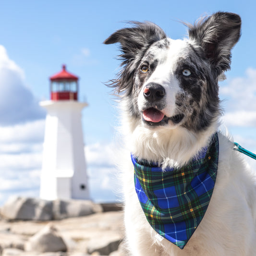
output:
[[[253,0],[8,0],[0,8],[0,205],[11,195],[38,196],[49,76],[79,76],[79,100],[92,199],[119,198],[113,147],[118,110],[104,85],[118,72],[118,45],[102,42],[127,21],[151,21],[173,38],[187,36],[180,22],[217,11],[238,13],[242,37],[232,68],[220,83],[223,123],[236,142],[256,152],[256,3]],[[256,168],[256,163],[250,164]]]

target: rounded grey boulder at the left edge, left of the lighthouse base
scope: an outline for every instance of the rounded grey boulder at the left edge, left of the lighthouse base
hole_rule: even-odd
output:
[[[13,196],[1,208],[1,215],[10,220],[50,220],[53,217],[52,202],[38,198]]]

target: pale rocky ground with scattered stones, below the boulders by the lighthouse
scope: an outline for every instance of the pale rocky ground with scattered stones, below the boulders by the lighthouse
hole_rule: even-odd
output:
[[[44,221],[2,217],[0,255],[126,256],[123,236],[123,213],[118,207],[106,206],[87,216]]]

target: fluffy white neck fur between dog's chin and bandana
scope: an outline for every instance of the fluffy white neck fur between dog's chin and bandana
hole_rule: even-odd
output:
[[[123,113],[127,113],[125,105],[122,104]],[[125,143],[132,154],[140,159],[158,162],[163,169],[185,165],[209,144],[211,135],[218,129],[218,119],[205,131],[198,133],[183,127],[150,130],[142,125],[141,120],[125,114],[122,120],[122,132],[127,138]]]

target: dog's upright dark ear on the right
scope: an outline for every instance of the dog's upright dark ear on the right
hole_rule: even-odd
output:
[[[241,18],[230,12],[216,12],[189,25],[189,37],[201,45],[218,76],[230,69],[231,49],[240,38]]]

